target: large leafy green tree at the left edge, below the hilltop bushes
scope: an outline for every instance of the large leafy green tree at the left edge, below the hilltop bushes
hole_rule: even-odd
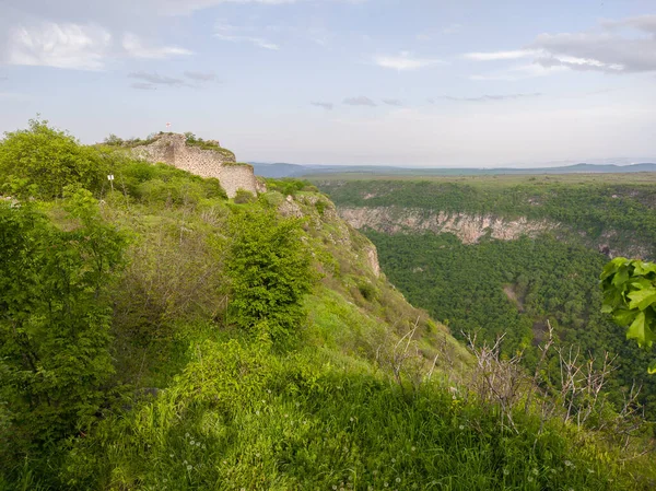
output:
[[[105,293],[125,241],[84,189],[66,201],[72,230],[33,207],[0,204],[0,400],[7,452],[87,428],[107,397],[112,312]],[[4,455],[7,458],[8,455]]]

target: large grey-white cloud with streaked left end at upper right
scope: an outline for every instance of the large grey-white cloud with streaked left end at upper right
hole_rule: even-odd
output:
[[[605,73],[656,71],[655,14],[602,21],[599,26],[601,30],[594,32],[541,34],[522,49],[468,52],[464,58],[477,61],[532,58],[531,65],[543,69],[541,72],[536,69],[536,73],[553,72],[559,68]],[[478,80],[494,79],[479,75]],[[496,80],[503,79],[497,75]],[[506,80],[516,78],[511,74]]]

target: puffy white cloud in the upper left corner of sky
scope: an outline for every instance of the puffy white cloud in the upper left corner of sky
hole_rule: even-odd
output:
[[[3,59],[9,65],[101,70],[112,35],[95,24],[42,22],[9,31]]]

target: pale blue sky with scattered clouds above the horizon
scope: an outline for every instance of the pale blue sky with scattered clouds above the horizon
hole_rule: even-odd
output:
[[[0,131],[166,130],[239,161],[656,156],[656,0],[0,0]]]

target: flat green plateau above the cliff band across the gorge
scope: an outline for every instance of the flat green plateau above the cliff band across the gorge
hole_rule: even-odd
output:
[[[655,255],[656,186],[629,176],[500,176],[430,180],[323,180],[340,207],[399,207],[550,220],[586,245],[604,241],[626,249],[640,244]],[[641,179],[641,182],[642,182]],[[628,183],[624,184],[623,180]],[[583,238],[582,238],[583,235]]]

